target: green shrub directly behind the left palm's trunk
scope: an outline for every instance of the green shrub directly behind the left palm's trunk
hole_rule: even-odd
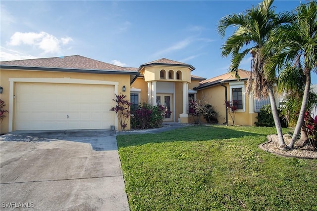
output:
[[[281,121],[282,127],[288,127],[285,117],[281,114],[283,109],[284,108],[277,108],[279,119]],[[264,105],[260,109],[257,119],[258,119],[258,122],[255,122],[255,124],[258,127],[275,127],[270,104]]]

